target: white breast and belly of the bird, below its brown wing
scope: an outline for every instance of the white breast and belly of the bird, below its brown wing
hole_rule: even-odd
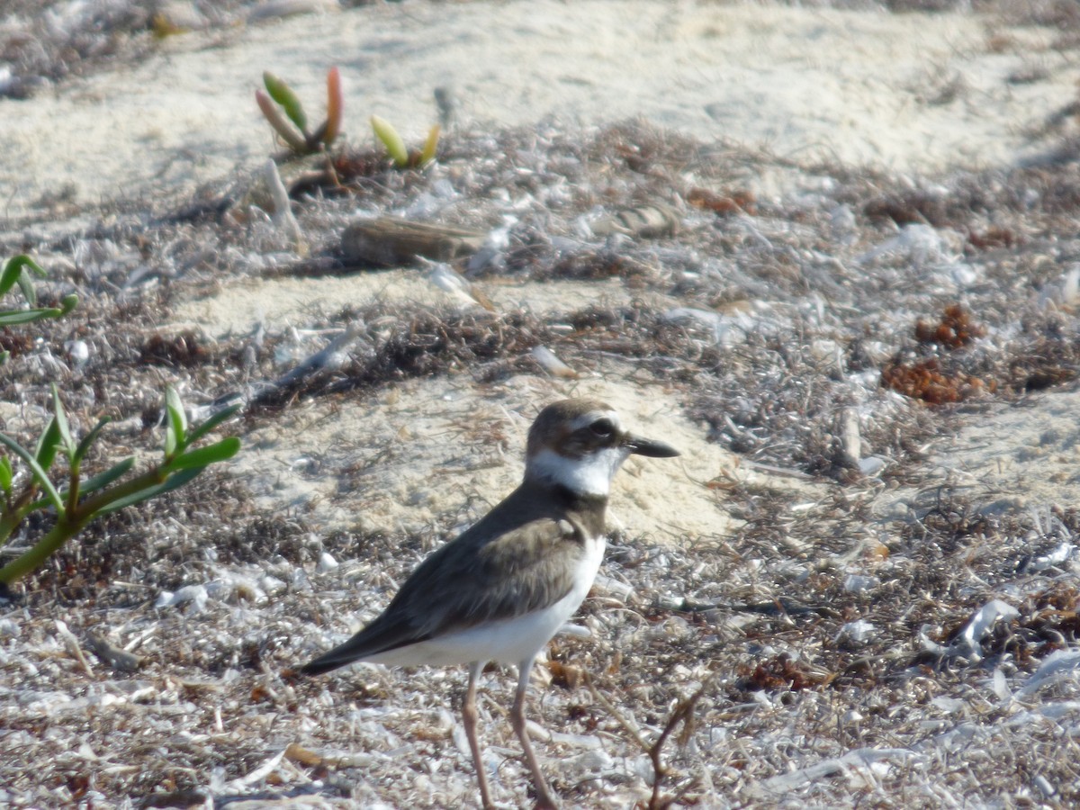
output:
[[[447,666],[473,661],[522,664],[531,661],[589,595],[589,589],[596,579],[596,571],[599,570],[606,546],[607,540],[604,536],[586,540],[585,553],[578,561],[573,585],[569,593],[541,610],[513,619],[480,624],[460,633],[431,638],[364,660],[399,666],[420,664]]]

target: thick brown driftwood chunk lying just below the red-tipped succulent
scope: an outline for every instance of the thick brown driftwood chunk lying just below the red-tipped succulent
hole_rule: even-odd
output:
[[[484,239],[485,234],[478,231],[377,217],[346,228],[341,253],[348,261],[378,267],[407,265],[417,256],[449,261],[476,253],[483,247]]]

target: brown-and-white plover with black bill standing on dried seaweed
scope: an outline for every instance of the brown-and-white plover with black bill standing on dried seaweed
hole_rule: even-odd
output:
[[[624,430],[602,402],[546,406],[529,429],[521,486],[424,559],[370,624],[300,673],[319,675],[355,661],[469,664],[461,716],[486,810],[494,805],[476,735],[476,681],[488,661],[517,664],[514,733],[532,773],[537,807],[556,807],[525,727],[529,673],[592,588],[607,543],[611,480],[632,454],[679,455]]]

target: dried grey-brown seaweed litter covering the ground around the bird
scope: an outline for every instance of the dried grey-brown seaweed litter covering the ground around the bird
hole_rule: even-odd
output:
[[[447,219],[490,229],[516,200],[504,248],[483,268],[459,269],[477,283],[556,289],[599,276],[630,291],[631,302],[543,311],[364,302],[293,329],[212,337],[171,326],[175,302],[305,266],[266,248],[272,233],[258,224],[132,218],[35,246],[71,258],[56,283],[77,287],[85,306],[11,347],[5,430],[31,435],[57,379],[71,391],[72,420],[109,415],[116,442],[150,448],[163,378],[195,404],[255,402],[259,383],[286,378],[350,325],[356,340],[339,363],[249,407],[240,432],[259,441],[312,403],[329,403],[320,413],[333,419],[333,408],[417,380],[489,392],[539,374],[530,351],[546,347],[583,374],[662,387],[664,402],[705,426],[702,441],[794,482],[785,489],[717,473],[706,485],[738,519],[725,536],[674,543],[616,534],[606,580],[579,617],[590,637],[555,640],[555,686],[532,697],[556,732],[538,748],[568,804],[1080,800],[1069,733],[1080,681],[1037,677],[1052,656],[1075,651],[1080,517],[1038,504],[987,510],[921,464],[931,438],[981,418],[975,406],[1075,376],[1080,335],[1062,275],[1080,255],[1069,208],[1080,167],[960,174],[913,190],[818,166],[834,181],[827,192],[729,210],[691,192],[741,188],[740,172],[775,165],[771,158],[732,151],[721,161],[715,147],[637,123],[460,133],[446,148],[464,201]],[[313,243],[334,245],[356,198],[408,210],[433,181],[357,179],[338,195],[303,198],[298,213]],[[578,227],[597,208],[656,199],[713,202],[679,207],[678,233],[663,239],[598,240]],[[84,360],[73,341],[86,345]],[[987,384],[967,406],[931,410],[881,386],[891,359],[933,360],[947,379]],[[840,460],[837,423],[849,410],[860,460],[876,454],[885,472]],[[519,450],[496,432],[498,453]],[[357,456],[340,474],[382,462]],[[319,475],[320,459],[307,470],[281,474]],[[483,499],[463,495],[458,511],[419,532],[330,532],[292,504],[268,514],[248,484],[207,477],[113,515],[0,611],[0,801],[474,799],[449,705],[460,700],[460,673],[281,674],[384,606]],[[883,519],[876,504],[899,486],[914,492],[909,510]],[[994,599],[1017,615],[967,644],[973,616]],[[117,671],[89,634],[141,666]],[[489,673],[482,711],[497,715],[510,690]],[[485,729],[496,789],[524,805],[527,780],[503,726]],[[312,756],[286,753],[297,742]]]

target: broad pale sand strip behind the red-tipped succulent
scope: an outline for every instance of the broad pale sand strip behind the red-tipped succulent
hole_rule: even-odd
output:
[[[71,184],[78,199],[106,201],[189,192],[253,168],[272,146],[253,102],[262,71],[322,98],[330,65],[342,72],[353,140],[369,137],[372,113],[417,137],[435,120],[433,89],[449,86],[467,122],[642,116],[800,160],[902,172],[994,165],[1023,154],[1025,127],[1075,93],[1053,40],[1050,29],[969,14],[757,3],[325,11],[171,37],[132,69],[32,104],[0,100],[0,189],[4,213],[19,216],[43,195],[70,195]]]

